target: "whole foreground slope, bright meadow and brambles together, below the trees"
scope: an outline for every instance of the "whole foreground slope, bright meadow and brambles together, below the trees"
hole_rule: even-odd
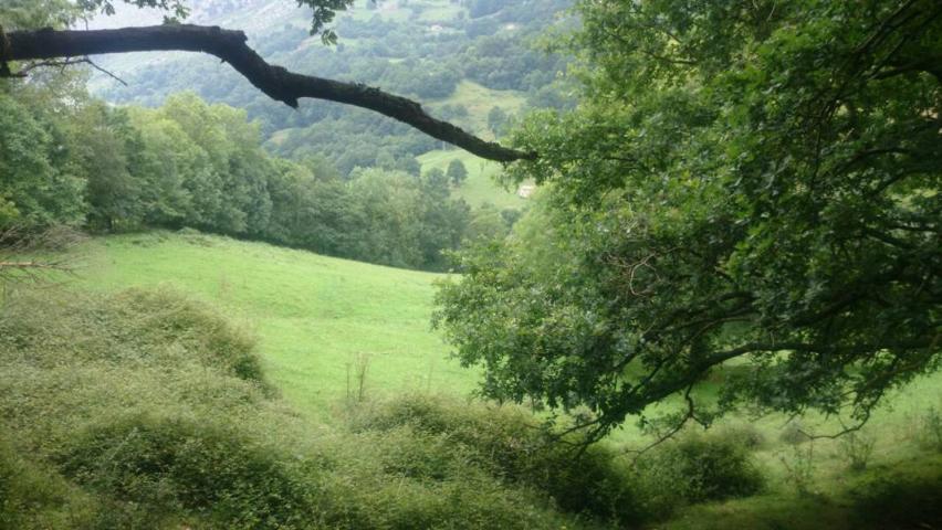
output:
[[[71,285],[0,304],[0,529],[600,522],[553,507],[672,529],[942,520],[938,375],[850,438],[733,416],[634,460],[618,449],[651,438],[629,425],[573,464],[531,414],[463,401],[475,374],[428,328],[439,275],[193,231],[75,256]]]

